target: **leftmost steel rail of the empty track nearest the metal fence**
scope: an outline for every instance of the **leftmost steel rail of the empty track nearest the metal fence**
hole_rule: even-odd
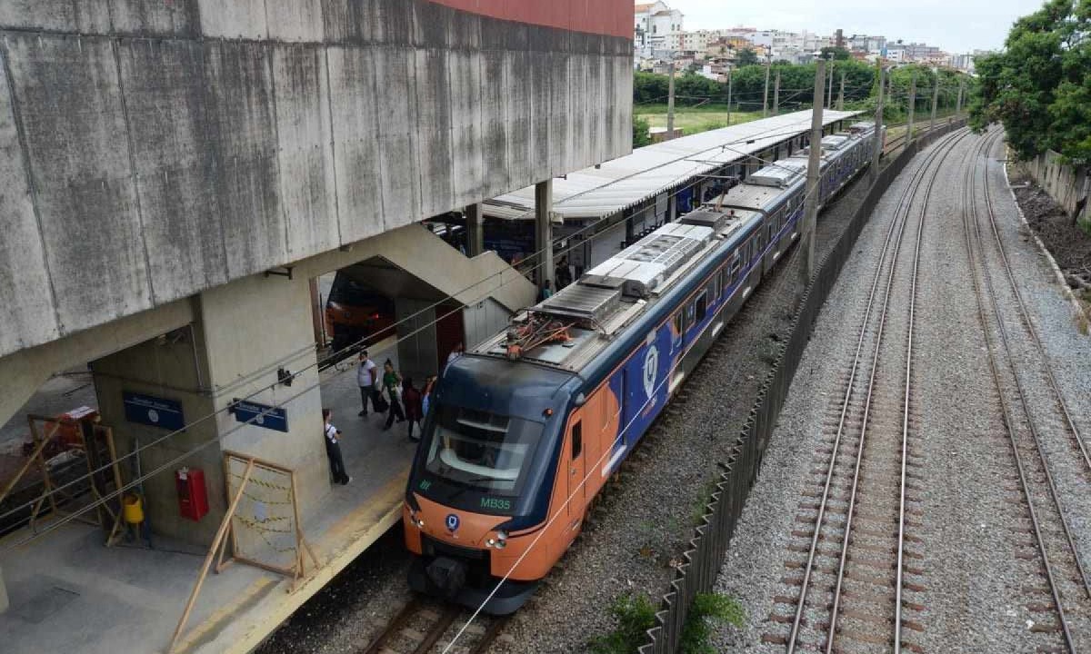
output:
[[[906,201],[907,196],[909,195],[910,190],[915,184],[919,184],[920,179],[924,175],[924,171],[927,169],[927,167],[935,159],[936,153],[938,153],[943,147],[946,147],[947,145],[950,145],[954,142],[957,142],[957,141],[961,140],[962,137],[966,136],[967,133],[968,132],[966,132],[964,129],[963,130],[959,130],[958,132],[952,133],[951,135],[945,137],[942,142],[939,142],[939,143],[936,144],[937,145],[936,148],[933,149],[931,153],[928,153],[927,157],[925,158],[925,160],[921,165],[921,167],[913,172],[913,177],[911,178],[910,183],[907,185],[906,190],[902,191],[902,193],[901,193],[901,195],[900,195],[900,197],[898,199],[898,206],[899,207],[904,204],[904,201]],[[907,209],[907,211],[908,211],[908,209]],[[904,213],[903,213],[902,217],[904,218]],[[841,402],[841,416],[840,416],[840,420],[839,420],[839,423],[838,423],[837,434],[836,434],[835,440],[834,440],[832,453],[830,455],[829,465],[828,465],[828,469],[826,471],[826,481],[825,481],[825,485],[823,487],[823,496],[822,496],[822,501],[820,501],[819,508],[818,508],[818,517],[815,520],[815,531],[814,531],[814,534],[812,535],[812,538],[811,538],[811,548],[810,548],[810,552],[807,554],[807,562],[806,562],[804,574],[803,574],[803,582],[802,582],[802,585],[801,585],[801,589],[800,589],[800,597],[799,597],[799,601],[798,601],[796,607],[795,607],[795,617],[794,617],[794,619],[792,621],[791,633],[789,634],[789,638],[788,638],[788,654],[792,654],[795,651],[795,641],[796,641],[796,638],[799,635],[800,626],[801,626],[801,622],[802,622],[802,619],[803,619],[803,611],[804,611],[805,606],[806,606],[806,598],[807,598],[807,591],[808,591],[810,582],[811,582],[811,574],[812,574],[812,572],[814,570],[814,560],[815,560],[815,555],[816,555],[816,552],[817,552],[817,547],[818,547],[818,537],[819,537],[820,532],[822,532],[822,525],[823,525],[824,517],[825,517],[825,513],[826,513],[826,508],[827,508],[827,506],[829,504],[829,488],[830,488],[830,484],[831,484],[831,481],[832,481],[832,477],[834,477],[834,469],[836,467],[837,456],[838,456],[838,452],[840,450],[841,436],[844,433],[844,423],[846,423],[846,417],[848,415],[849,403],[850,403],[850,400],[852,399],[852,390],[853,390],[853,386],[854,386],[854,383],[855,383],[856,373],[860,370],[861,353],[863,351],[864,340],[865,340],[865,338],[867,336],[867,327],[868,327],[868,323],[871,320],[872,308],[875,305],[875,294],[876,294],[876,291],[878,290],[879,281],[883,278],[883,267],[884,267],[884,264],[886,262],[887,254],[889,252],[890,241],[891,241],[891,239],[892,239],[892,237],[895,234],[895,231],[898,228],[898,226],[899,226],[899,219],[898,219],[898,216],[896,214],[895,219],[890,221],[890,227],[887,230],[887,234],[886,234],[886,238],[885,238],[884,243],[883,243],[883,250],[879,253],[879,261],[878,261],[878,264],[876,265],[875,277],[872,280],[872,288],[871,288],[871,291],[870,291],[870,294],[868,294],[868,299],[867,299],[867,307],[865,310],[864,319],[863,319],[862,326],[860,328],[860,336],[859,336],[858,341],[856,341],[856,351],[855,351],[855,354],[853,356],[853,362],[852,362],[852,367],[851,367],[851,371],[850,371],[849,382],[847,384],[844,398],[843,398],[843,400]]]

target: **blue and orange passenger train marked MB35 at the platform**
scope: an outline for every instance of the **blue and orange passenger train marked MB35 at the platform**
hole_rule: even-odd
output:
[[[874,137],[856,123],[823,140],[820,203],[867,165]],[[492,614],[521,606],[799,238],[805,157],[655,230],[446,367],[403,508],[415,590]]]

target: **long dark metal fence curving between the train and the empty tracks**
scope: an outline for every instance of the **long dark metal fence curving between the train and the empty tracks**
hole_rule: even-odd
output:
[[[894,179],[921,148],[963,124],[964,120],[936,125],[934,132],[911,142],[883,169],[844,233],[811,279],[792,322],[791,334],[780,346],[774,368],[758,391],[742,433],[732,444],[727,460],[720,463],[720,479],[705,505],[705,516],[700,525],[694,530],[690,548],[682,555],[682,565],[674,571],[670,589],[663,595],[661,609],[656,614],[656,626],[648,630],[648,641],[638,650],[640,654],[676,652],[694,598],[698,593],[712,590],[746,497],[757,480],[766,446],[776,427],[795,368],[811,338],[814,322],[875,206]]]

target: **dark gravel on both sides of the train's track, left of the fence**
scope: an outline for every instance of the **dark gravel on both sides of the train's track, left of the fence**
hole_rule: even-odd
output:
[[[862,175],[819,218],[819,259],[862,202],[866,181]],[[693,536],[716,462],[742,428],[778,340],[790,326],[801,265],[799,249],[791,250],[724,329],[654,427],[657,435],[634,453],[585,533],[507,625],[492,652],[583,652],[590,638],[612,629],[608,606],[619,595],[645,593],[658,604],[672,564]],[[304,605],[262,652],[340,653],[365,645],[408,600],[407,557],[397,554],[397,534],[383,546],[392,552],[367,553]]]

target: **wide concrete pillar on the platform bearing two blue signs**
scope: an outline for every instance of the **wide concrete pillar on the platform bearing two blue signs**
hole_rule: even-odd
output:
[[[131,451],[137,440],[146,447],[172,432],[127,413],[124,393],[166,400],[182,410],[185,431],[140,456],[144,474],[168,465],[144,482],[154,532],[195,545],[211,543],[227,508],[224,450],[295,470],[303,521],[328,493],[310,286],[304,276],[253,275],[209,289],[193,300],[192,328],[92,363],[103,422],[113,427],[119,453]],[[301,372],[290,387],[278,383],[280,367]],[[226,411],[237,398],[283,407],[287,432],[237,421]],[[180,461],[171,462],[179,456]],[[175,471],[182,467],[204,471],[209,512],[196,522],[179,514]],[[245,538],[242,532],[240,537]]]

